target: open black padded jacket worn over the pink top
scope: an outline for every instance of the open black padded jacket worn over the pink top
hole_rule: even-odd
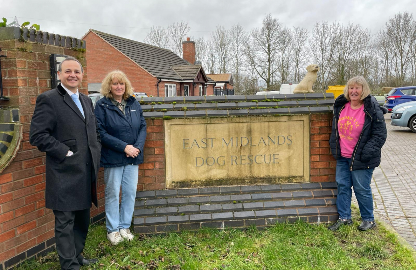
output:
[[[378,167],[381,162],[381,147],[383,147],[387,138],[384,115],[377,100],[369,95],[363,101],[365,122],[358,143],[352,152],[351,171]],[[329,144],[335,159],[341,157],[338,119],[347,102],[348,100],[344,95],[338,96],[334,102],[334,119],[332,121],[332,133]]]

